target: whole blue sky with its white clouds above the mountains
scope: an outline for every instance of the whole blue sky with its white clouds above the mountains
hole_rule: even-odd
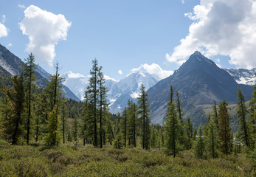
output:
[[[0,0],[0,44],[50,74],[165,78],[198,50],[222,68],[256,67],[255,0]]]

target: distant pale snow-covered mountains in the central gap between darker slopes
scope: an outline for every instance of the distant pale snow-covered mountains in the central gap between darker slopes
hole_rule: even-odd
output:
[[[61,77],[65,79],[63,85],[69,87],[80,100],[83,100],[84,93],[89,85],[89,76],[66,72]],[[141,71],[128,74],[119,81],[111,79],[106,75],[104,77],[105,86],[108,88],[107,98],[111,113],[122,111],[122,108],[127,105],[129,99],[136,100],[142,83],[146,89],[149,89],[158,81],[151,74]]]

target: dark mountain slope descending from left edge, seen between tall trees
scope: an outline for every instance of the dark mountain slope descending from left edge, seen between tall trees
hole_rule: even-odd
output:
[[[21,63],[23,62],[20,58],[13,55],[13,53],[0,44],[0,74],[6,74],[8,76],[19,74]],[[35,71],[35,83],[39,87],[46,86],[49,75],[50,74],[42,69],[41,66],[38,66],[38,69]],[[79,100],[66,86],[63,86],[63,92],[66,93],[67,99]]]

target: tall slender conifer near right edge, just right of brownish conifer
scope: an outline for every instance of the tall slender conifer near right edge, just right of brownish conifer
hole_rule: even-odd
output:
[[[245,143],[247,147],[250,147],[249,140],[249,127],[246,119],[246,115],[249,111],[246,108],[246,100],[243,96],[243,92],[238,88],[238,103],[237,103],[237,114],[238,114],[238,122],[240,124],[240,128],[238,131],[238,137]]]

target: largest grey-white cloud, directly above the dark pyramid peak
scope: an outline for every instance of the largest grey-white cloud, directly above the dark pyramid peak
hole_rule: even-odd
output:
[[[198,50],[207,57],[229,56],[237,66],[256,66],[256,1],[201,0],[184,15],[193,21],[189,35],[166,55],[168,61],[181,64]]]

